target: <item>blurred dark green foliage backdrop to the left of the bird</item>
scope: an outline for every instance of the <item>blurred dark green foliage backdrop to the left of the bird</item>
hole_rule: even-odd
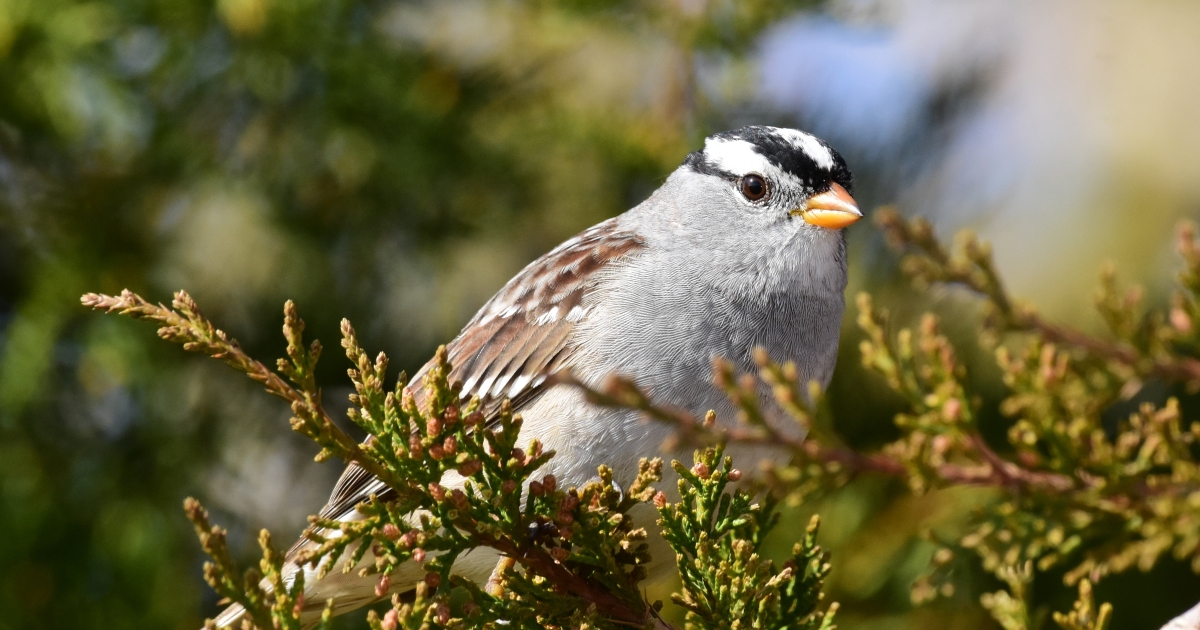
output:
[[[80,293],[186,286],[256,354],[293,298],[416,367],[724,126],[695,54],[805,4],[0,0],[0,626],[192,628],[179,498],[256,553],[263,494],[308,504],[287,538],[332,482],[239,468],[311,452]]]

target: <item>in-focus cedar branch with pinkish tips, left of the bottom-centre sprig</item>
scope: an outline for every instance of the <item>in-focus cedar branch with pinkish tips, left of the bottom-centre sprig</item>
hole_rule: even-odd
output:
[[[388,498],[371,497],[360,504],[360,520],[312,517],[305,533],[307,546],[292,560],[298,566],[318,568],[322,577],[338,565],[362,576],[378,575],[376,592],[380,598],[390,589],[389,576],[402,564],[424,564],[427,572],[418,584],[416,602],[394,601],[392,611],[383,618],[372,617],[372,628],[461,625],[463,618],[456,614],[547,628],[584,622],[599,628],[670,628],[658,614],[659,605],[646,602],[637,588],[649,562],[647,533],[634,528],[625,516],[637,503],[653,499],[652,484],[661,478],[660,462],[641,462],[628,496],[613,484],[607,467],[600,467],[599,481],[582,488],[560,488],[553,475],[534,480],[533,473],[553,452],[544,451],[538,440],[526,449],[517,446],[522,421],[508,401],[500,407],[497,426],[482,427],[479,401],[460,404],[461,385],[449,379],[451,366],[444,347],[421,384],[425,404],[419,408],[403,374],[395,390],[384,389],[388,358],[379,354],[370,359],[354,328],[343,320],[342,346],[354,365],[349,370],[354,394],[348,415],[370,433],[366,442],[352,443],[350,449],[344,444],[349,438],[320,407],[314,378],[320,344],[304,346],[304,322],[290,301],[283,325],[288,359],[278,361],[277,372],[246,355],[182,292],[173,308],[130,292],[119,298],[89,294],[83,302],[164,324],[160,329],[163,338],[221,359],[289,401],[296,415],[293,428],[322,446],[318,460],[337,455],[380,472],[377,476],[388,484]],[[440,485],[451,470],[466,478],[463,487]],[[259,629],[299,629],[301,613],[311,608],[304,602],[304,575],[286,575],[284,558],[271,545],[270,534],[264,530],[259,538],[260,570],[240,574],[224,544],[224,532],[209,524],[198,502],[188,499],[185,508],[212,558],[205,565],[210,586],[227,601],[240,604]],[[419,522],[409,517],[414,511],[422,514]],[[455,558],[478,547],[496,550],[523,569],[499,576],[498,595],[451,575]],[[454,614],[450,586],[472,595],[470,605]],[[323,624],[332,614],[331,606],[325,602]]]

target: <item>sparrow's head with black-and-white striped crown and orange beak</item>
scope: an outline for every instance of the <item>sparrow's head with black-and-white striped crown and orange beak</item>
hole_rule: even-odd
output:
[[[750,126],[709,136],[680,170],[707,180],[720,200],[721,211],[706,218],[822,232],[863,217],[846,162],[802,131]]]

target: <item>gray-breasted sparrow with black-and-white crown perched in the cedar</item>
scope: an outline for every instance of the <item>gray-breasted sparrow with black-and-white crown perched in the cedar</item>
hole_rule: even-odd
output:
[[[736,410],[713,384],[713,361],[749,372],[763,348],[793,361],[800,384],[823,389],[845,310],[844,228],[863,216],[852,190],[845,160],[812,134],[754,125],[709,136],[644,202],[568,239],[484,304],[446,346],[450,377],[462,383],[463,398],[479,396],[485,416],[511,401],[523,416],[521,442],[538,438],[556,451],[539,476],[582,486],[608,464],[629,484],[638,460],[658,455],[672,428],[592,406],[554,376],[569,372],[593,386],[620,376],[656,404],[728,419]],[[416,388],[431,366],[415,374]],[[769,394],[762,396],[769,408]],[[320,516],[359,518],[356,505],[372,494],[385,500],[386,492],[350,463]],[[306,545],[301,539],[289,558]],[[661,565],[673,554],[659,541],[652,557]],[[496,562],[476,550],[454,570],[482,582]],[[391,576],[392,592],[414,588],[424,575],[408,564]],[[306,626],[329,598],[335,614],[382,599],[376,576],[332,571],[318,580],[314,569],[287,566],[306,571],[305,600],[313,602],[301,614]],[[216,624],[239,626],[244,616],[233,605]]]

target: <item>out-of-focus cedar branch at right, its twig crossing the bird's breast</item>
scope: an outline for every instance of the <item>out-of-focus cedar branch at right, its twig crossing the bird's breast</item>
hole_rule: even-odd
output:
[[[858,296],[863,364],[907,406],[895,416],[900,437],[876,451],[847,448],[822,419],[820,392],[810,388],[803,396],[794,366],[779,366],[761,354],[756,360],[762,380],[779,407],[808,431],[805,440],[768,422],[757,408],[755,379],[734,378],[722,364],[718,384],[742,409],[736,427],[654,409],[629,382],[590,391],[592,400],[646,409],[677,425],[680,437],[690,440],[788,448],[793,463],[769,469],[764,481],[796,503],[814,500],[864,473],[898,478],[914,494],[994,488],[992,499],[965,529],[941,540],[946,548],[913,586],[913,599],[954,593],[955,558],[968,552],[1007,586],[982,598],[1006,629],[1038,628],[1046,617],[1030,601],[1039,572],[1064,569],[1067,584],[1088,578],[1080,586],[1075,612],[1055,619],[1068,628],[1102,628],[1111,607],[1093,610],[1091,584],[1105,575],[1130,568],[1148,571],[1164,554],[1190,560],[1200,571],[1200,424],[1186,420],[1174,397],[1132,404],[1115,427],[1106,427],[1104,419],[1150,379],[1188,389],[1200,385],[1200,361],[1192,354],[1192,322],[1200,302],[1194,228],[1180,230],[1186,266],[1165,313],[1144,312],[1140,292],[1118,295],[1111,271],[1104,272],[1097,305],[1112,332],[1110,341],[1045,322],[1031,306],[1009,298],[989,246],[973,235],[960,235],[948,251],[923,220],[907,222],[886,209],[878,222],[905,252],[902,266],[918,288],[953,283],[984,298],[980,342],[992,350],[1008,389],[998,403],[998,412],[1012,419],[1004,444],[984,437],[978,382],[967,378],[938,318],[928,313],[916,330],[893,331],[887,312],[866,294]]]

